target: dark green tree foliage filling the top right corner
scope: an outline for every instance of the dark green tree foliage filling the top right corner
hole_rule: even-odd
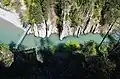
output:
[[[119,10],[120,10],[119,0],[109,0],[108,2],[105,2],[101,11],[100,24],[105,25],[114,22],[116,18],[120,17]]]

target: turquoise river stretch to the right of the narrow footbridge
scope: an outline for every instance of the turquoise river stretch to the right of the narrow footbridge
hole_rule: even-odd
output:
[[[59,37],[57,34],[52,34],[48,38],[38,38],[35,37],[34,35],[27,35],[24,41],[22,42],[22,45],[25,47],[35,47],[35,46],[53,46],[53,45],[58,45],[59,43],[66,43],[68,40],[74,40],[78,41],[79,43],[84,43],[89,40],[94,40],[97,43],[100,43],[102,41],[102,37],[99,34],[86,34],[86,35],[81,35],[78,38],[73,37],[73,36],[68,36],[64,38],[63,40],[59,40]],[[109,42],[109,39],[105,39],[104,42]]]

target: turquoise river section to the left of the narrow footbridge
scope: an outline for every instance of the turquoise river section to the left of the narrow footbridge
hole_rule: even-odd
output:
[[[0,18],[0,41],[9,44],[10,42],[17,41],[23,34],[23,30],[16,27],[15,25],[7,22],[6,20]]]

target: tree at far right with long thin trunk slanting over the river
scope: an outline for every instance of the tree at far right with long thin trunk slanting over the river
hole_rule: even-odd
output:
[[[105,36],[103,37],[101,43],[99,44],[98,49],[101,46],[101,44],[104,42],[105,38],[107,37],[107,35],[111,31],[111,29],[113,28],[113,26],[116,23],[116,21],[118,20],[118,18],[120,17],[120,15],[119,15],[120,7],[119,6],[120,6],[119,1],[110,0],[110,1],[106,2],[105,6],[103,7],[103,10],[101,12],[102,21],[104,21],[103,19],[106,19],[106,21],[108,21],[106,23],[109,24],[109,29],[108,29],[107,33],[105,34]],[[110,12],[110,15],[106,15],[106,17],[105,17],[105,12]],[[103,23],[103,24],[105,24],[105,23]]]

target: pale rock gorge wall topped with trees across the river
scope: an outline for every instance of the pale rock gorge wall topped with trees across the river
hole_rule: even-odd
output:
[[[119,30],[120,8],[116,9],[120,5],[119,1],[118,3],[112,0],[35,1],[11,1],[20,5],[10,8],[10,10],[15,10],[14,12],[19,15],[21,23],[32,26],[28,34],[33,33],[37,37],[49,37],[52,33],[58,33],[62,39],[69,35],[106,33],[116,18],[117,20],[110,33]]]

